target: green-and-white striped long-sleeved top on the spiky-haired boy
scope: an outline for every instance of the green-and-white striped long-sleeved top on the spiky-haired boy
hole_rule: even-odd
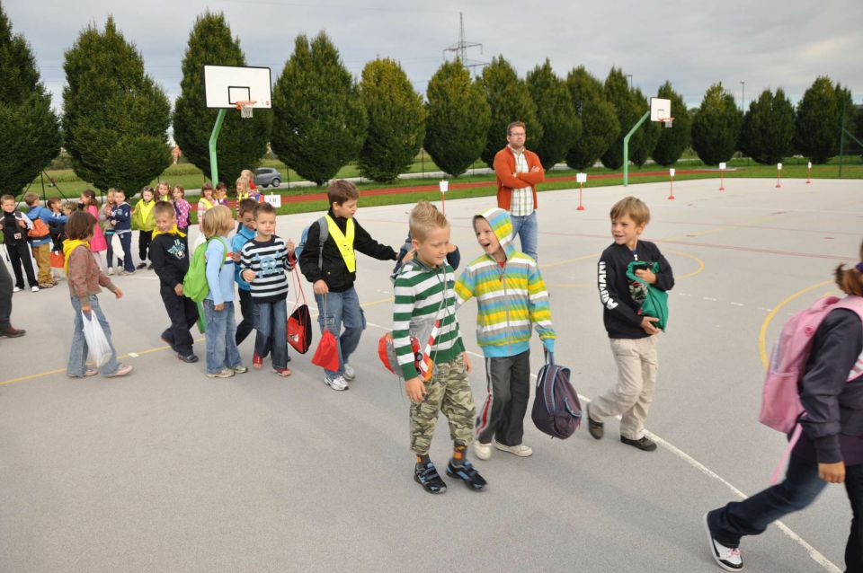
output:
[[[428,344],[431,327],[422,328],[423,322],[440,319],[438,336],[432,345],[431,356],[435,364],[449,362],[465,351],[456,320],[456,276],[447,263],[432,269],[419,260],[405,264],[396,277],[396,304],[393,308],[393,347],[396,348],[398,366],[405,380],[415,378],[414,351],[411,334],[417,336],[420,350]],[[442,302],[442,304],[441,304]],[[420,332],[425,332],[424,339]]]

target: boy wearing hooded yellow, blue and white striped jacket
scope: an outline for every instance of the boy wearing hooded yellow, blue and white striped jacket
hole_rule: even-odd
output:
[[[512,245],[512,219],[494,207],[474,216],[484,254],[467,265],[456,283],[458,304],[476,296],[476,342],[485,355],[488,397],[476,419],[474,453],[480,460],[494,447],[519,457],[533,454],[522,443],[530,398],[530,330],[535,325],[549,353],[557,335],[548,291],[537,261]]]

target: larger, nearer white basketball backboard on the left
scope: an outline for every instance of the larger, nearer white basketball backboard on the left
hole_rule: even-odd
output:
[[[204,66],[204,96],[208,108],[236,108],[237,101],[254,101],[269,110],[272,100],[269,67]]]

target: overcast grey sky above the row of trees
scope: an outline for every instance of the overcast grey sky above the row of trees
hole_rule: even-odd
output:
[[[586,66],[604,79],[621,66],[646,95],[665,80],[695,106],[710,84],[722,82],[751,101],[782,87],[796,102],[817,75],[829,75],[863,101],[863,0],[0,0],[13,31],[30,42],[42,79],[61,105],[63,53],[89,22],[100,28],[113,14],[143,54],[147,72],[173,100],[180,90],[182,54],[195,17],[224,12],[240,36],[246,61],[280,75],[298,33],[325,30],[345,66],[359,77],[374,57],[394,57],[418,92],[440,66],[443,49],[466,38],[482,44],[468,57],[503,54],[523,77],[551,60],[558,75]],[[712,5],[708,5],[712,4]],[[707,7],[705,7],[707,6]]]

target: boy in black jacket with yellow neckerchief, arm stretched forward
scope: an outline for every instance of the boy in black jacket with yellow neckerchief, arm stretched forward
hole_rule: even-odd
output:
[[[321,331],[339,339],[339,369],[325,370],[324,382],[333,390],[347,390],[356,376],[348,364],[360,345],[366,319],[353,283],[357,278],[356,252],[378,260],[396,260],[396,251],[375,241],[353,218],[360,191],[350,181],[336,180],[326,190],[330,209],[309,225],[299,254],[299,269],[314,285]],[[321,240],[325,236],[325,240]],[[344,332],[342,325],[344,324]]]

